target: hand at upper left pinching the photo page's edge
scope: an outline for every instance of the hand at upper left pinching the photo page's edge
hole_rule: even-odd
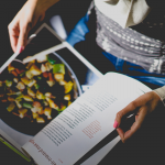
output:
[[[13,52],[21,53],[28,41],[29,32],[45,16],[46,10],[58,0],[28,0],[8,25]]]

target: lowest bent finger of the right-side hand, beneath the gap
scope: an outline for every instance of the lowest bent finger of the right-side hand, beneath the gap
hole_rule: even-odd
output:
[[[141,108],[139,116],[135,116],[135,122],[133,123],[130,130],[124,132],[121,128],[117,129],[121,138],[121,141],[123,143],[125,143],[125,141],[130,139],[141,128],[146,114],[147,114],[147,108],[143,107]]]

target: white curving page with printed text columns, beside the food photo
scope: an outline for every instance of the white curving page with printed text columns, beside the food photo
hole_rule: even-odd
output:
[[[109,73],[23,148],[40,165],[73,165],[114,130],[118,111],[147,91],[133,78]]]

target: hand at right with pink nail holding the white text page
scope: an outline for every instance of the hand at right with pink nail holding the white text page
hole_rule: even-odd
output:
[[[154,91],[150,91],[142,95],[117,113],[113,127],[117,128],[123,143],[141,128],[146,116],[154,111],[161,102],[160,96]],[[127,117],[132,113],[135,113],[135,122],[132,124],[130,130],[124,132],[120,125],[124,122]]]

